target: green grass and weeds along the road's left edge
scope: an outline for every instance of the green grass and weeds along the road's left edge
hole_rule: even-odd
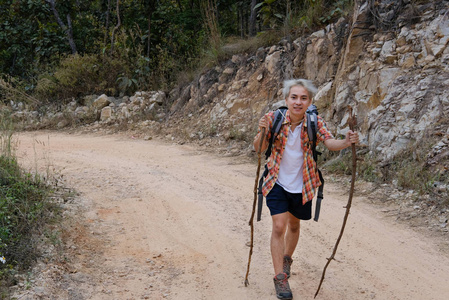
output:
[[[53,191],[39,175],[21,169],[14,155],[13,125],[0,119],[0,288],[14,282],[17,271],[27,270],[39,255],[36,238],[55,218]],[[6,297],[0,294],[0,298]]]

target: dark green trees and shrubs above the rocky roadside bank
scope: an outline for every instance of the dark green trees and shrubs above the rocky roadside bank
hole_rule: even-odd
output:
[[[55,103],[169,89],[232,54],[334,22],[352,3],[1,0],[0,101],[5,85]]]

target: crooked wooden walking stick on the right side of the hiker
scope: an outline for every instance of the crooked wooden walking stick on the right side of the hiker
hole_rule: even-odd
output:
[[[354,127],[357,125],[357,119],[356,119],[355,115],[352,113],[352,107],[350,107],[350,106],[349,106],[348,123],[349,123],[349,129],[354,131]],[[348,203],[346,204],[346,213],[345,213],[345,217],[343,219],[343,225],[341,226],[340,235],[338,236],[337,242],[335,243],[334,250],[332,251],[332,255],[327,259],[327,263],[324,266],[323,274],[321,275],[320,284],[318,286],[318,289],[316,290],[314,298],[316,298],[316,296],[320,292],[321,284],[323,283],[324,275],[326,274],[326,269],[329,266],[330,262],[334,259],[335,253],[337,253],[338,244],[340,244],[341,237],[343,236],[343,232],[344,232],[345,226],[346,226],[346,221],[348,220],[348,216],[349,216],[349,210],[351,209],[352,196],[354,195],[355,174],[356,174],[356,170],[357,170],[357,157],[356,157],[356,153],[355,153],[355,144],[354,143],[351,144],[351,150],[352,150],[352,177],[351,177],[351,189],[349,191],[349,199],[348,199]]]

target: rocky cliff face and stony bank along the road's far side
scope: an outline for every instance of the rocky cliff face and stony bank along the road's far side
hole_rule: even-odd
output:
[[[307,78],[319,88],[314,101],[334,134],[348,130],[350,105],[366,152],[381,163],[407,149],[415,155],[419,148],[428,165],[447,174],[449,2],[355,2],[351,18],[234,55],[168,95],[86,99],[85,106],[73,102],[51,117],[59,120],[58,127],[68,118],[72,123],[96,120],[94,128],[127,124],[147,135],[251,152],[259,118],[283,101],[283,80]],[[28,124],[49,122],[49,116],[16,110],[15,117]]]

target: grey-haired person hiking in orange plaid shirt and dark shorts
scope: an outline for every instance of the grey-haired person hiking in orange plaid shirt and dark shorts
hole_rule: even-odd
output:
[[[287,110],[280,131],[273,142],[267,159],[268,175],[262,193],[272,217],[271,256],[274,266],[274,286],[279,299],[292,299],[288,283],[292,255],[299,239],[300,220],[310,220],[312,199],[321,185],[307,135],[306,111],[317,92],[313,83],[305,79],[284,81],[283,97]],[[259,121],[259,132],[254,138],[258,150],[265,128],[265,140],[260,151],[267,150],[271,139],[274,112],[265,114]],[[357,132],[349,131],[343,140],[336,140],[325,121],[318,116],[317,143],[323,142],[332,151],[358,143]]]

